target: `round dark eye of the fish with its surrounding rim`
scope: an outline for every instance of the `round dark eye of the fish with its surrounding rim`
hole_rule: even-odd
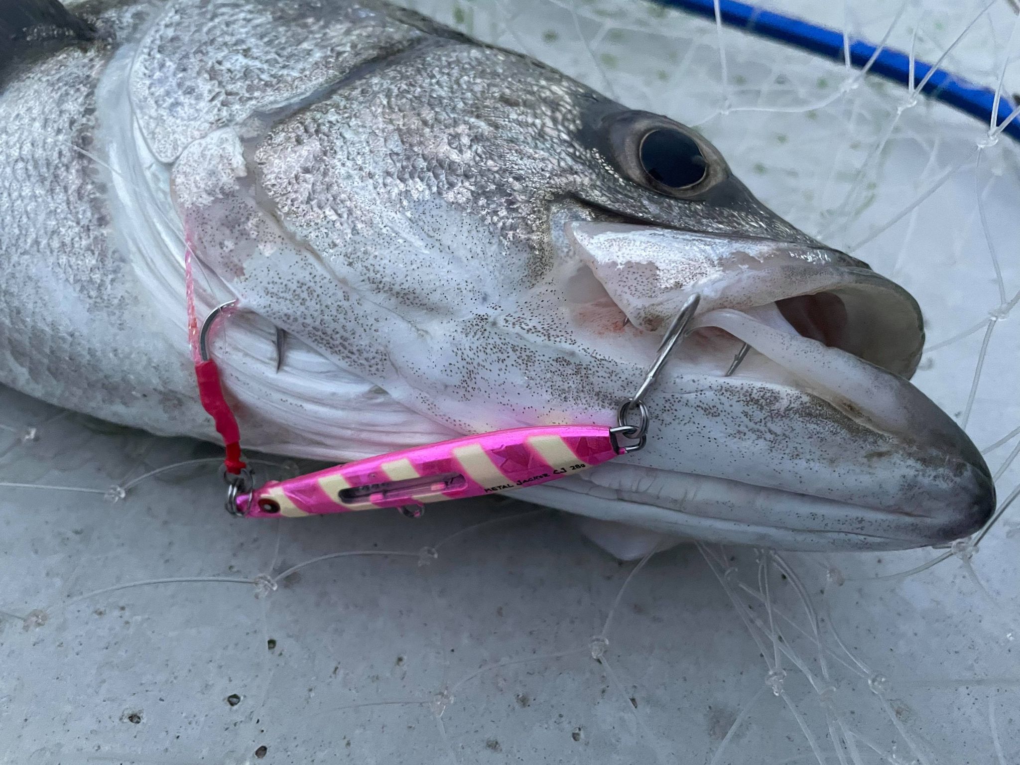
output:
[[[604,120],[602,146],[632,183],[694,200],[729,175],[716,148],[679,122],[648,111],[619,111]]]

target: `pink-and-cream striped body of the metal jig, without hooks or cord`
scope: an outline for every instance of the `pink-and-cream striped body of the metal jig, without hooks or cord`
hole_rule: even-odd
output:
[[[368,457],[237,497],[247,517],[302,517],[397,507],[419,515],[430,502],[538,486],[626,452],[619,428],[546,425],[496,430]]]

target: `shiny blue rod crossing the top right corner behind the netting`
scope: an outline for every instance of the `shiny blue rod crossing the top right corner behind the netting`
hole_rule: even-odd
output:
[[[852,38],[838,30],[803,18],[766,10],[736,0],[653,0],[659,5],[719,20],[730,28],[782,43],[831,61],[849,62],[865,72],[877,74],[910,90],[918,90],[991,125],[992,133],[1006,133],[1020,142],[1020,122],[1009,100],[971,83],[966,78],[926,63],[903,51]],[[987,8],[985,8],[987,10]],[[994,115],[994,118],[992,117]]]

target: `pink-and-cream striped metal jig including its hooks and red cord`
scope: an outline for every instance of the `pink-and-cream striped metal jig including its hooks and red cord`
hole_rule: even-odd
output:
[[[249,518],[278,515],[294,518],[384,507],[400,508],[405,515],[418,516],[430,502],[533,487],[639,451],[645,447],[651,419],[645,396],[687,332],[700,299],[699,295],[692,295],[673,319],[638,393],[620,404],[616,427],[542,425],[465,436],[296,478],[270,480],[253,489],[252,473],[241,459],[237,420],[223,396],[208,345],[209,332],[217,316],[236,305],[231,302],[215,308],[197,332],[189,255],[190,251],[186,253],[189,325],[199,392],[202,405],[215,420],[226,447],[223,464],[226,509],[233,515]],[[743,359],[743,353],[734,359],[730,372]],[[632,413],[640,417],[636,425],[626,422],[627,415]],[[621,445],[620,437],[631,443]]]

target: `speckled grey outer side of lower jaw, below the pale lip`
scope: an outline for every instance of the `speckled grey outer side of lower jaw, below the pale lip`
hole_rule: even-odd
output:
[[[983,463],[963,456],[969,444],[954,453],[872,429],[796,382],[685,382],[688,395],[666,377],[649,397],[643,452],[525,496],[664,534],[786,550],[946,543],[994,507]]]

